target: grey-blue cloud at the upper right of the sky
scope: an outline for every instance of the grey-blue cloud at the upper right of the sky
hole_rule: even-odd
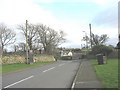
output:
[[[109,8],[99,13],[94,19],[93,23],[97,26],[107,26],[116,28],[118,26],[118,8],[117,6]]]

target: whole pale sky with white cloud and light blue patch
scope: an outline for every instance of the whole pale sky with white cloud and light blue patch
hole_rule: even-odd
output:
[[[0,0],[0,23],[12,28],[16,43],[24,42],[17,26],[25,23],[42,23],[56,31],[63,30],[67,41],[61,47],[81,48],[85,33],[107,34],[107,44],[118,41],[119,0]],[[84,32],[83,32],[84,31]]]

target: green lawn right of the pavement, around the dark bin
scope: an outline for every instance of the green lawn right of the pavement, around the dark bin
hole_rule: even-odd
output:
[[[105,88],[118,88],[118,59],[108,59],[107,64],[103,65],[98,65],[97,60],[92,60],[92,64]]]

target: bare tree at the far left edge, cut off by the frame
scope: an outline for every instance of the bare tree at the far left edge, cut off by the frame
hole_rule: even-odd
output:
[[[4,24],[0,24],[0,42],[2,51],[4,50],[5,46],[15,42],[15,36],[16,34],[13,32],[13,30],[7,28],[7,26]]]

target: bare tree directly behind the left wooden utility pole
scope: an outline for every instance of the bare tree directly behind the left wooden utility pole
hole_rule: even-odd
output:
[[[37,31],[36,31],[35,27],[36,27],[36,25],[33,25],[33,24],[28,24],[27,25],[27,29],[28,29],[28,45],[29,45],[30,50],[33,49],[32,48],[33,43],[35,43],[38,40],[38,35],[37,35]],[[25,25],[19,25],[18,29],[22,30],[24,36],[27,37]]]

